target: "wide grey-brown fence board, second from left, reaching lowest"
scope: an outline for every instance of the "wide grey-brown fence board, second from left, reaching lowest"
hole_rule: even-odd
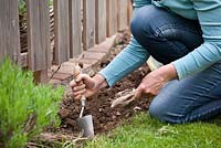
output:
[[[50,15],[46,0],[27,0],[29,68],[50,67]]]

